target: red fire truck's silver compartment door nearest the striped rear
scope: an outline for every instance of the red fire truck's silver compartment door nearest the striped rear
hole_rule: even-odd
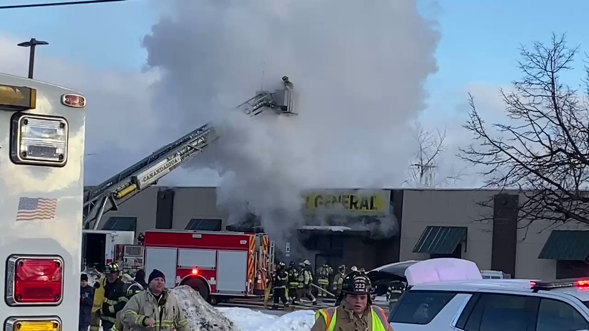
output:
[[[217,251],[217,292],[246,292],[247,251]]]

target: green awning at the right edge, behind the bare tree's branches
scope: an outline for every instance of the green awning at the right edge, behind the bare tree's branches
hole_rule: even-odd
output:
[[[552,230],[538,259],[585,261],[589,256],[589,231]]]

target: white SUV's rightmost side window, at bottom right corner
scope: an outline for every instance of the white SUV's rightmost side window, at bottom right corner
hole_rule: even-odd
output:
[[[536,331],[589,330],[589,323],[577,309],[568,303],[542,299],[538,309]]]

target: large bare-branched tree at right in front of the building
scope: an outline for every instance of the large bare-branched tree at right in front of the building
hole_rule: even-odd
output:
[[[486,187],[518,188],[524,226],[538,219],[589,224],[589,80],[571,88],[562,77],[573,69],[578,47],[565,36],[552,35],[550,44],[521,47],[521,80],[512,90],[500,90],[506,123],[485,125],[469,95],[469,121],[464,127],[474,144],[461,157],[482,166]],[[589,78],[585,67],[584,77]]]

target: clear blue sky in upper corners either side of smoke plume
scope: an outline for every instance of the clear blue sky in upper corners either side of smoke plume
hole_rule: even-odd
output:
[[[35,2],[41,0],[4,0],[2,4]],[[463,98],[468,84],[507,84],[518,77],[519,44],[547,40],[552,31],[567,32],[571,43],[589,49],[587,12],[589,1],[578,0],[562,0],[557,6],[548,0],[441,1],[435,11],[442,33],[439,72],[428,82],[431,102],[451,107],[458,100],[440,100]],[[141,38],[160,16],[150,0],[9,9],[0,14],[4,32],[23,40],[49,41],[51,45],[39,52],[89,67],[123,70],[144,64]]]

